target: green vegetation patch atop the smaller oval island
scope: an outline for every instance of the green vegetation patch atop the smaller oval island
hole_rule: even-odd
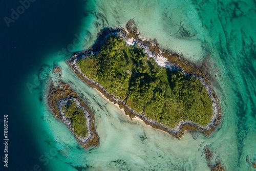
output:
[[[68,117],[71,121],[71,125],[74,132],[79,137],[86,137],[88,134],[88,128],[86,125],[86,117],[83,114],[83,110],[77,108],[77,104],[74,100],[69,100],[66,105],[61,108],[65,117]]]

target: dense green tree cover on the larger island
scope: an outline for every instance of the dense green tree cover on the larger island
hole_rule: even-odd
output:
[[[160,67],[142,48],[109,36],[99,52],[77,61],[80,71],[137,113],[169,129],[181,120],[206,126],[212,101],[199,79]]]

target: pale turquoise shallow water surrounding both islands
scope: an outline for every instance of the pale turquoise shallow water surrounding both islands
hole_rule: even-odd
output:
[[[132,18],[142,37],[156,38],[161,47],[199,66],[204,63],[220,99],[222,123],[209,138],[197,133],[194,139],[187,132],[177,140],[140,121],[132,121],[80,81],[67,67],[65,56],[56,51],[44,61],[48,65],[45,72],[39,72],[43,84],[33,89],[33,93],[25,93],[28,103],[37,111],[33,127],[42,155],[52,154],[48,163],[38,156],[35,164],[45,170],[208,170],[203,151],[208,145],[214,150],[212,162],[220,160],[226,170],[253,170],[251,163],[256,161],[253,1],[95,1],[87,10],[90,14],[81,27],[83,41],[73,51],[91,46],[101,28],[123,27]],[[94,111],[99,147],[84,150],[48,110],[46,88],[48,79],[56,79],[49,71],[54,64],[62,68],[62,80],[70,83]],[[34,74],[37,75],[31,73],[28,82],[33,83]]]

